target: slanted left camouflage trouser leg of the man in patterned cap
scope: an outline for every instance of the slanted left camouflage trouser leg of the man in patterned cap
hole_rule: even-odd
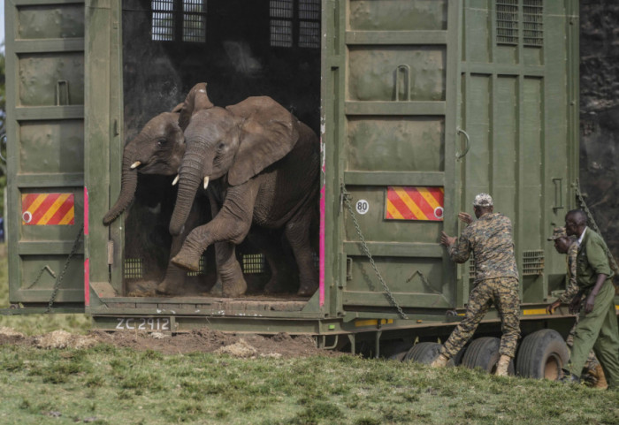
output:
[[[490,307],[492,292],[489,289],[488,280],[482,280],[470,292],[466,314],[461,323],[449,335],[445,344],[440,348],[440,353],[448,359],[455,356],[478,328],[479,322]]]

